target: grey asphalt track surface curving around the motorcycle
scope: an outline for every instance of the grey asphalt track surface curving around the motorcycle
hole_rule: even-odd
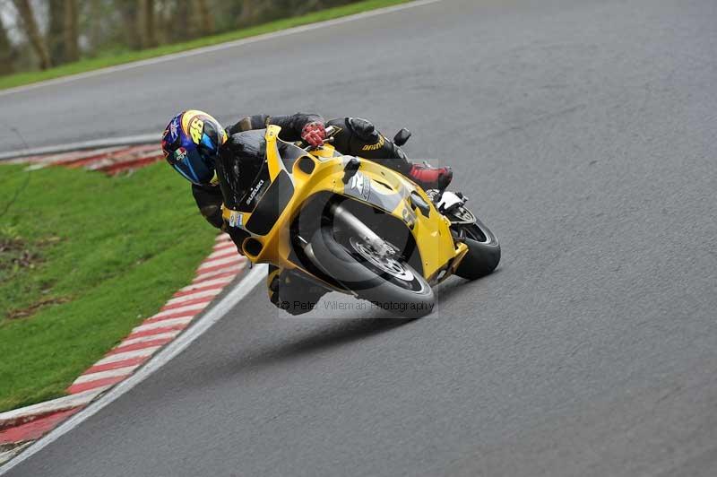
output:
[[[715,24],[712,0],[445,0],[0,97],[12,146],[189,107],[409,126],[504,250],[403,324],[287,319],[260,286],[9,475],[714,475]]]

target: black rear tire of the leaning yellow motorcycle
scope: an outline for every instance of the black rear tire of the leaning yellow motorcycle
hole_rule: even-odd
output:
[[[495,234],[476,219],[476,223],[462,227],[468,254],[463,257],[455,274],[467,280],[476,280],[492,273],[500,262],[500,244]]]

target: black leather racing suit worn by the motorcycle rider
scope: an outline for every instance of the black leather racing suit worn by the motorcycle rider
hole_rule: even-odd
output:
[[[259,174],[265,160],[265,144],[263,129],[269,125],[281,126],[279,137],[288,142],[301,139],[301,130],[312,122],[324,123],[324,118],[315,114],[297,113],[290,116],[256,115],[244,117],[235,125],[227,128],[229,140],[220,149],[220,155],[236,161],[238,167],[239,189],[248,192]],[[333,146],[343,154],[360,156],[376,160],[386,167],[407,174],[410,162],[402,150],[390,140],[376,131],[366,119],[344,117],[325,122],[326,126],[334,126],[337,133],[333,134]],[[192,194],[204,218],[214,227],[226,230],[239,253],[241,243],[247,237],[242,230],[229,228],[221,217],[221,204],[224,199],[219,186],[192,186]],[[241,194],[240,194],[241,195]],[[306,313],[315,307],[326,289],[308,282],[295,273],[286,273],[270,266],[267,277],[269,298],[272,303],[285,309],[292,315]]]

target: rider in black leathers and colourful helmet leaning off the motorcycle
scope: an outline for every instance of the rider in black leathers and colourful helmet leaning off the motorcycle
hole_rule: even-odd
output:
[[[317,114],[255,115],[224,128],[203,111],[186,110],[169,121],[162,135],[162,152],[168,163],[192,183],[194,201],[204,218],[214,227],[227,231],[239,253],[242,253],[241,243],[247,234],[244,230],[229,228],[222,218],[224,199],[214,161],[221,157],[235,162],[239,189],[248,192],[265,160],[263,129],[269,125],[281,127],[279,137],[283,141],[302,140],[314,147],[324,143],[326,126],[333,126],[333,146],[338,152],[374,160],[425,189],[443,189],[453,178],[451,168],[434,168],[408,160],[401,148],[366,119],[343,117],[326,122]],[[327,291],[296,273],[287,273],[272,265],[267,287],[272,303],[292,315],[313,309]]]

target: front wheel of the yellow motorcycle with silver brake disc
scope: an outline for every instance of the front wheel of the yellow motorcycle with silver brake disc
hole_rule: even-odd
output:
[[[315,265],[359,299],[401,317],[424,317],[433,310],[433,290],[423,276],[401,257],[377,253],[358,233],[324,225],[310,243]]]

